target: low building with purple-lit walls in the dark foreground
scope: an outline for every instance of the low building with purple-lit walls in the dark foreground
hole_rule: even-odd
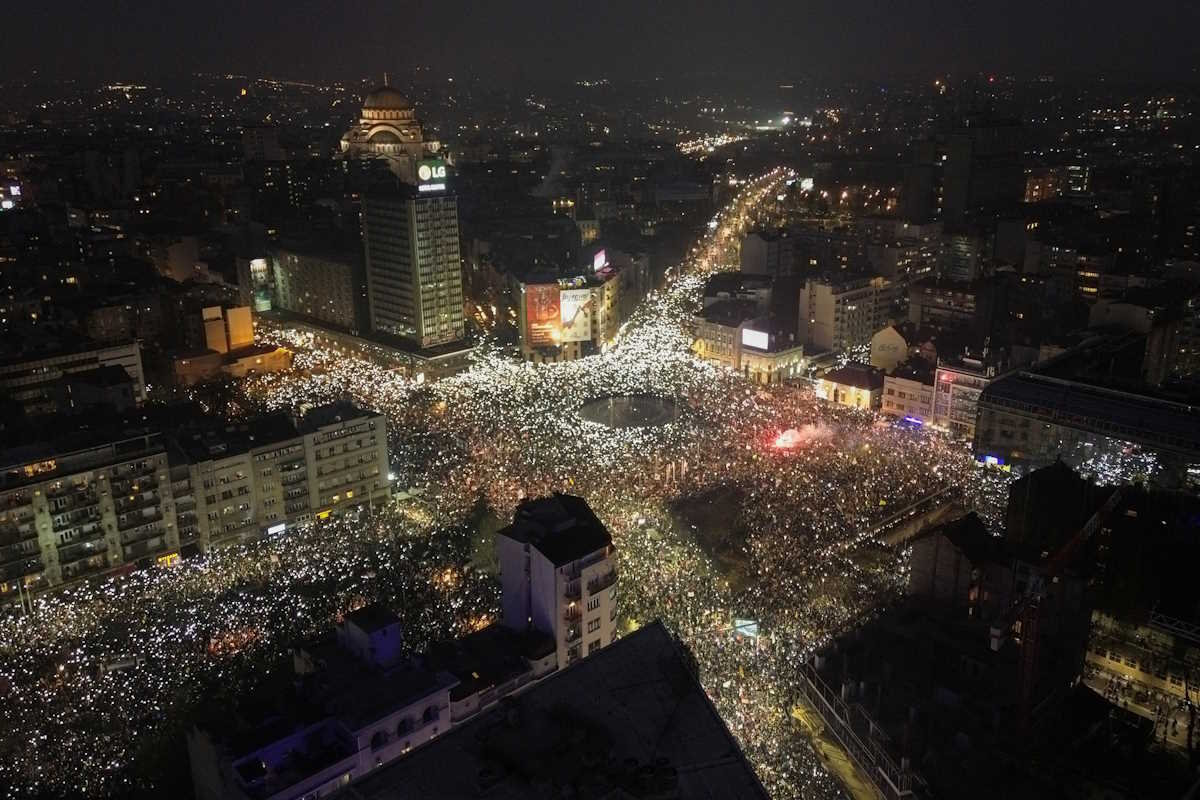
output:
[[[187,734],[197,800],[329,796],[449,730],[457,680],[406,658],[402,640],[395,614],[359,608],[293,650],[294,682],[202,711]]]

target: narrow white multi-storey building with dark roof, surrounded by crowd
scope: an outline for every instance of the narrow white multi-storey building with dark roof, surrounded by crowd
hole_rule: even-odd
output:
[[[522,503],[496,552],[504,624],[552,636],[559,668],[617,638],[617,557],[584,500],[554,494]]]

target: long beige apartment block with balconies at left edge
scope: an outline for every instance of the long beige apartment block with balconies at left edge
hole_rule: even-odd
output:
[[[97,420],[0,453],[0,601],[390,498],[385,420],[346,403],[299,421]]]

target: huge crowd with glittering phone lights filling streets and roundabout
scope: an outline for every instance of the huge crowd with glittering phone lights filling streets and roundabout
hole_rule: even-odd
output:
[[[898,595],[905,559],[877,543],[880,523],[938,493],[995,521],[1007,476],[940,434],[691,355],[704,276],[726,269],[739,234],[762,222],[760,203],[793,178],[746,184],[602,355],[540,366],[481,355],[418,384],[270,333],[295,365],[239,384],[233,410],[340,398],[380,410],[400,499],[5,620],[0,784],[10,796],[128,787],[214,686],[236,692],[295,637],[373,600],[396,609],[414,649],[486,624],[498,584],[472,566],[476,523],[558,491],[586,498],[612,533],[625,630],[660,618],[682,638],[772,796],[839,796],[791,716],[797,663]],[[674,410],[625,427],[580,415],[625,396]],[[121,660],[132,663],[102,674]]]

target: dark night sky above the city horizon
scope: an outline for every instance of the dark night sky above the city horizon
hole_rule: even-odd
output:
[[[1195,78],[1198,30],[1194,0],[59,0],[5,4],[0,67],[101,79],[332,79],[416,65],[500,79]]]

